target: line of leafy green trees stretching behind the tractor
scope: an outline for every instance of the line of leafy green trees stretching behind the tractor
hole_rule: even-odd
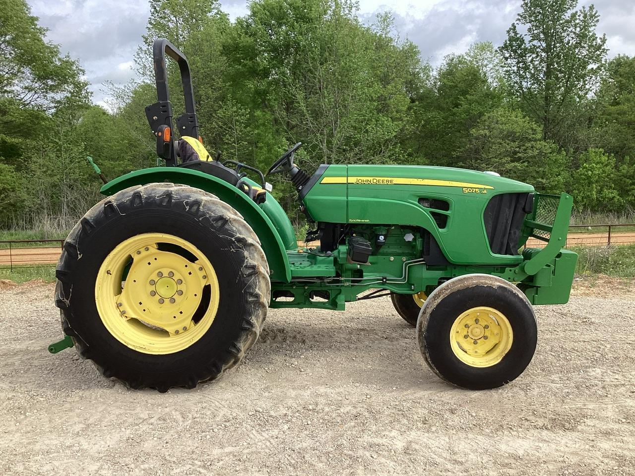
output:
[[[422,62],[389,13],[361,22],[352,0],[254,0],[229,20],[217,0],[149,0],[138,77],[90,105],[83,70],[44,40],[24,0],[0,0],[0,223],[68,228],[108,178],[157,164],[144,107],[156,101],[152,42],[192,69],[212,154],[266,169],[295,142],[302,168],[405,163],[493,170],[578,211],[635,207],[635,58],[606,62],[599,14],[576,0],[524,0],[500,48],[476,43]],[[171,101],[183,107],[168,65]],[[292,220],[284,178],[275,193]]]

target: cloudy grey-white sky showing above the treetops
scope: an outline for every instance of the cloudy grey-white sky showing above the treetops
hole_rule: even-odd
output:
[[[126,83],[135,76],[133,56],[149,16],[146,0],[27,0],[32,15],[86,70],[93,102],[105,105],[104,82]],[[582,2],[589,4],[590,2]],[[598,33],[606,34],[609,55],[635,54],[635,1],[596,0]],[[248,11],[245,0],[222,0],[232,20]],[[359,0],[359,17],[371,24],[377,13],[392,11],[400,37],[419,47],[424,60],[439,65],[448,53],[470,44],[505,39],[521,0]]]

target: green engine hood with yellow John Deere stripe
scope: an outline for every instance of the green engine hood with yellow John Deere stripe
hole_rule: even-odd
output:
[[[317,221],[425,228],[451,263],[509,266],[522,258],[491,251],[483,213],[495,195],[530,192],[526,183],[465,169],[330,166],[305,203],[315,209]],[[324,209],[327,204],[338,209]],[[344,204],[345,214],[339,209]]]

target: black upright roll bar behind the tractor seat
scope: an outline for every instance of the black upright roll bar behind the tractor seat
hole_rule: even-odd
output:
[[[170,90],[168,89],[168,69],[166,67],[166,53],[178,63],[183,83],[183,97],[185,99],[185,114],[175,118],[178,132],[181,136],[198,138],[199,125],[194,105],[194,89],[192,89],[192,76],[187,58],[176,46],[165,38],[154,40],[152,44],[152,56],[154,58],[154,80],[157,88],[157,102],[145,108],[145,116],[150,124],[150,129],[157,135],[161,126],[172,129],[172,105],[170,103]],[[161,128],[163,129],[163,128]],[[173,136],[173,135],[172,135]],[[157,154],[165,159],[168,166],[176,166],[177,156],[173,141],[163,143],[157,136]]]

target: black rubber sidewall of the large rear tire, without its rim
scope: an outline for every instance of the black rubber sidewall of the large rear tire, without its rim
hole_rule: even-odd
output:
[[[187,213],[185,201],[175,196],[170,206],[165,206],[150,199],[137,209],[126,208],[126,203],[119,201],[121,214],[91,216],[94,228],[90,234],[79,232],[77,252],[81,260],[72,267],[72,281],[64,283],[72,286],[64,314],[81,338],[87,354],[83,357],[92,359],[105,375],[134,388],[193,387],[198,381],[215,378],[231,363],[232,354],[242,353],[240,344],[249,317],[245,314],[250,312],[252,299],[243,292],[248,288],[244,267],[249,263],[239,244],[241,237],[231,220],[215,223],[213,216]],[[150,232],[175,235],[196,246],[210,260],[220,286],[218,312],[210,329],[173,354],[145,354],[119,342],[104,326],[95,304],[95,280],[106,256],[125,239]]]

